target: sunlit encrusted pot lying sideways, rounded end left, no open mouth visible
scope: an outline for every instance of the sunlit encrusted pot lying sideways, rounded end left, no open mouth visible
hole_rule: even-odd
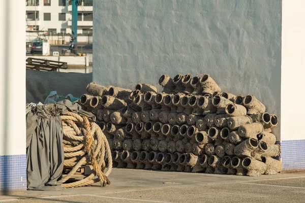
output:
[[[256,138],[257,134],[264,131],[261,123],[249,123],[239,126],[238,134],[241,138]]]

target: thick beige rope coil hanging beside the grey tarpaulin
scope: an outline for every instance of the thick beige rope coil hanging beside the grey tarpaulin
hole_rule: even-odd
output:
[[[87,117],[73,112],[67,112],[66,115],[61,116],[61,119],[64,134],[64,173],[68,173],[59,180],[63,183],[62,186],[81,187],[96,182],[100,182],[101,186],[110,184],[107,176],[112,170],[112,157],[108,141],[101,128],[94,122],[90,123]],[[83,180],[65,183],[76,176],[84,165],[92,165],[94,173]]]

